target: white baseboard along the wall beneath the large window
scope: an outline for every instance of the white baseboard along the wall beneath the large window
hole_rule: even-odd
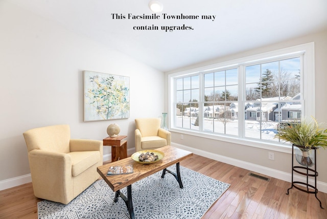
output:
[[[291,173],[288,173],[288,172],[283,172],[283,171],[279,171],[279,170],[276,170],[276,169],[272,169],[272,168],[252,164],[252,163],[249,163],[249,162],[236,160],[236,159],[233,159],[233,158],[217,155],[217,154],[214,154],[212,152],[196,149],[196,148],[181,145],[181,144],[176,144],[176,143],[173,143],[173,142],[172,142],[172,146],[178,147],[178,148],[181,148],[181,149],[184,149],[184,150],[189,150],[189,151],[193,152],[194,154],[200,155],[202,157],[210,158],[210,159],[220,161],[220,162],[223,162],[223,163],[226,163],[226,164],[230,164],[230,165],[237,166],[237,167],[240,167],[240,168],[248,169],[250,171],[258,172],[258,173],[264,174],[266,176],[273,177],[273,178],[283,180],[283,181],[286,181],[286,182],[291,182],[291,180],[292,180],[292,175],[291,175]],[[293,180],[303,182],[303,183],[307,182],[307,178],[297,176],[297,175],[293,176]],[[314,185],[314,183],[315,182],[314,182],[313,179],[309,179],[309,184],[310,185]],[[327,193],[327,183],[317,181],[317,189],[318,189],[318,191]]]

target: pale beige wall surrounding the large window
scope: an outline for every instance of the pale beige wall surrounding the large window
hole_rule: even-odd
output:
[[[214,60],[194,64],[189,67],[174,70],[165,73],[166,78],[169,74],[195,69],[205,65],[220,63],[224,61],[234,60],[251,55],[257,55],[265,52],[270,52],[278,49],[284,49],[296,45],[301,45],[308,42],[315,44],[315,117],[318,122],[327,125],[327,31],[314,33],[283,42],[268,45],[262,48],[256,48],[243,53],[238,53],[230,56],[220,57]],[[310,74],[310,73],[309,73]],[[166,79],[167,83],[167,79]],[[166,97],[168,96],[168,84],[166,87]],[[167,101],[167,100],[166,100]],[[327,128],[327,127],[325,127]],[[229,162],[230,164],[240,166],[243,168],[252,168],[261,173],[269,174],[270,176],[290,181],[291,173],[291,154],[287,152],[270,151],[268,149],[261,149],[242,144],[234,144],[230,142],[218,141],[213,139],[201,138],[197,136],[187,135],[183,133],[183,140],[180,138],[180,133],[172,132],[172,142],[177,146],[186,146],[194,151],[201,150],[203,156],[207,155],[213,159],[222,162]],[[289,150],[291,152],[291,150]],[[274,152],[275,160],[268,160],[268,152]],[[320,149],[317,153],[317,171],[319,176],[318,190],[323,187],[324,192],[327,192],[327,150]]]

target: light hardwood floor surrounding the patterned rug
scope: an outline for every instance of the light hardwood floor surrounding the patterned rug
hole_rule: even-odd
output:
[[[250,171],[193,155],[180,163],[206,176],[229,183],[230,187],[205,213],[207,218],[327,218],[327,194],[318,192],[321,209],[314,194],[295,188],[286,195],[291,183],[270,178],[264,181],[249,176]],[[263,176],[262,174],[259,174]],[[267,177],[267,176],[266,176]],[[0,191],[0,218],[37,218],[37,202],[32,183]]]

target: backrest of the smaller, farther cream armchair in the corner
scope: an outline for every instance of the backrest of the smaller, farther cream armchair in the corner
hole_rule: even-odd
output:
[[[142,137],[158,136],[160,124],[160,118],[135,119],[135,126],[141,132]]]

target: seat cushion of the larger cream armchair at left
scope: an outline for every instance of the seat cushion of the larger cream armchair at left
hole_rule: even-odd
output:
[[[99,151],[76,151],[68,153],[72,159],[72,175],[78,176],[92,165],[99,162]]]

